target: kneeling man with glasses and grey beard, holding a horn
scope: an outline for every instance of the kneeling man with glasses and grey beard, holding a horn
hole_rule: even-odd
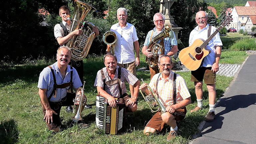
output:
[[[178,127],[176,121],[178,122],[185,118],[187,112],[185,106],[190,104],[191,99],[184,79],[171,71],[173,67],[171,57],[162,55],[158,60],[158,66],[161,73],[153,76],[149,87],[156,93],[156,97],[161,102],[160,105],[165,107],[166,112],[157,112],[147,123],[144,133],[146,135],[159,133],[164,125],[168,124],[171,127],[167,136],[167,141],[169,141],[177,136]],[[147,83],[142,84],[139,89],[149,95],[146,85]],[[176,88],[176,92],[174,88]]]

